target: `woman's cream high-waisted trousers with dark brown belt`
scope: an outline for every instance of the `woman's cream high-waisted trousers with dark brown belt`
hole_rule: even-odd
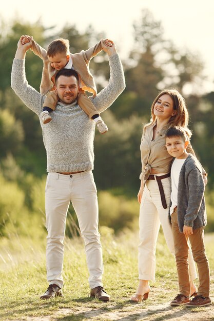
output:
[[[163,175],[163,174],[160,174]],[[139,279],[155,279],[155,250],[160,225],[162,226],[166,243],[170,252],[174,255],[174,242],[172,227],[169,223],[169,202],[170,202],[170,177],[161,180],[166,198],[167,208],[164,209],[161,203],[161,195],[157,180],[147,180],[144,187],[139,219]],[[191,249],[189,249],[189,275],[190,279],[197,277]]]

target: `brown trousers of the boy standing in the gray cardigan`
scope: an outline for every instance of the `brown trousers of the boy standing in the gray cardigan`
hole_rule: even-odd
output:
[[[177,208],[171,214],[172,233],[174,239],[174,251],[176,254],[176,265],[179,279],[179,293],[189,296],[189,272],[188,272],[188,244],[184,233],[179,231]],[[198,295],[209,296],[209,263],[205,253],[204,246],[204,227],[193,230],[193,234],[189,235],[192,255],[194,262],[197,263],[199,272],[199,288]]]

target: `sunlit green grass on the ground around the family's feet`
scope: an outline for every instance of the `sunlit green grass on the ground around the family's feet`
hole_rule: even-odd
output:
[[[168,304],[178,292],[177,273],[174,258],[169,253],[161,233],[157,246],[156,280],[151,283],[152,288],[148,299],[141,304],[133,304],[129,301],[138,285],[138,232],[124,230],[120,236],[115,237],[111,229],[103,227],[101,235],[104,258],[103,283],[111,294],[109,303],[101,303],[88,296],[90,291],[88,270],[81,238],[65,240],[64,297],[57,297],[47,302],[39,299],[48,286],[45,237],[39,242],[30,236],[19,238],[17,235],[11,235],[9,239],[2,239],[0,320],[25,320],[29,317],[32,319],[37,317],[36,320],[39,320],[42,316],[52,315],[55,320],[107,321],[113,320],[114,314],[122,316],[129,314],[130,320],[157,321],[172,319],[171,313],[183,313],[183,308],[172,310]],[[214,234],[206,235],[212,293],[214,288],[213,241]],[[164,305],[162,308],[159,307],[161,304]],[[207,311],[211,311],[210,308],[208,309],[189,309],[188,313],[191,315],[206,313],[208,317]],[[119,317],[117,316],[116,319]],[[207,318],[209,319],[211,318]]]

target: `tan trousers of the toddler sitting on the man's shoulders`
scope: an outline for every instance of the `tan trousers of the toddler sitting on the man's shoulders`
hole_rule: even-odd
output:
[[[54,111],[58,101],[59,97],[57,96],[56,92],[51,91],[47,94],[43,107],[49,107]],[[77,95],[77,104],[89,116],[90,119],[94,115],[100,115],[100,113],[96,110],[96,108],[91,102],[91,99],[88,98],[84,90],[79,91]]]

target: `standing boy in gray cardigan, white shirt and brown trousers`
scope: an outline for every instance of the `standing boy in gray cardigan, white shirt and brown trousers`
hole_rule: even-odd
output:
[[[202,168],[196,157],[187,153],[188,138],[181,127],[171,127],[165,134],[168,153],[175,157],[171,166],[171,202],[169,217],[172,225],[179,294],[172,306],[203,307],[209,298],[209,264],[205,254],[204,226],[206,209]],[[188,244],[190,240],[199,273],[198,293],[190,300]]]

